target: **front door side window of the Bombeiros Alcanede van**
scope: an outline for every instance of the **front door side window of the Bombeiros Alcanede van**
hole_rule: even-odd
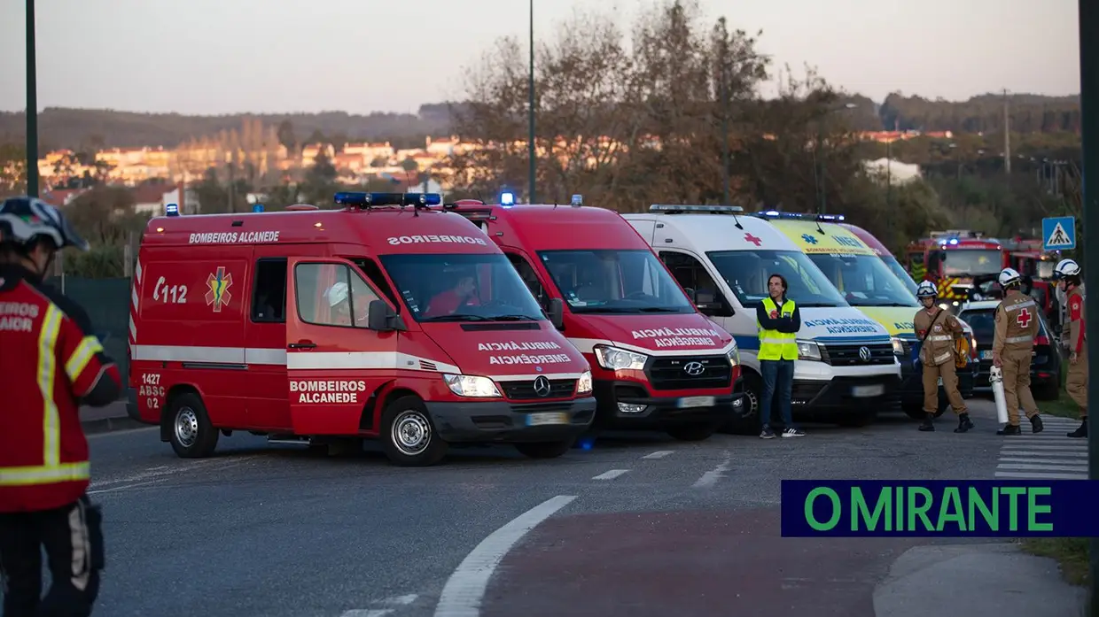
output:
[[[370,301],[366,281],[342,263],[299,263],[293,269],[298,316],[320,326],[366,327]]]

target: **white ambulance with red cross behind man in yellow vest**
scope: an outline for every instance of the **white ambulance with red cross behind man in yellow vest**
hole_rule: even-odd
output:
[[[873,422],[878,410],[891,406],[900,381],[889,334],[852,307],[774,225],[737,216],[741,212],[731,205],[652,205],[646,214],[623,215],[702,313],[736,338],[747,402],[735,416],[735,430],[758,435],[761,429],[755,311],[776,272],[788,281],[788,298],[801,312],[795,414],[844,425]]]

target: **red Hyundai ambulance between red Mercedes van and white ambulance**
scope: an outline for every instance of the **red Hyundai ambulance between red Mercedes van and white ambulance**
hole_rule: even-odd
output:
[[[622,216],[582,205],[458,201],[543,306],[563,301],[563,332],[592,367],[600,428],[700,440],[742,404],[733,337],[699,313]],[[703,303],[701,306],[706,306]]]

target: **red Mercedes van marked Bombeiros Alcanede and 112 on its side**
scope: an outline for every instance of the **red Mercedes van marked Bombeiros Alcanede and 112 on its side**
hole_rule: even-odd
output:
[[[318,446],[379,438],[402,465],[457,442],[566,452],[595,416],[591,371],[496,244],[431,210],[437,194],[335,201],[346,207],[149,221],[131,413],[180,457],[209,456],[237,429]]]

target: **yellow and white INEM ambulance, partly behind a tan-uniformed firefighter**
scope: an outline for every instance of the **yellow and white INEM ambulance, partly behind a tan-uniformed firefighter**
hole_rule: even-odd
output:
[[[754,215],[770,221],[786,234],[824,272],[847,303],[881,324],[893,337],[893,351],[901,368],[901,408],[913,418],[923,418],[923,374],[909,361],[919,344],[912,321],[921,306],[904,281],[889,270],[873,248],[837,224],[842,215],[776,211]],[[907,276],[904,279],[909,280]],[[958,391],[962,396],[969,397],[980,362],[973,328],[962,319],[958,322],[969,341],[969,362],[957,373]],[[946,393],[942,388],[940,401],[943,404],[937,414],[942,415],[946,408]]]

